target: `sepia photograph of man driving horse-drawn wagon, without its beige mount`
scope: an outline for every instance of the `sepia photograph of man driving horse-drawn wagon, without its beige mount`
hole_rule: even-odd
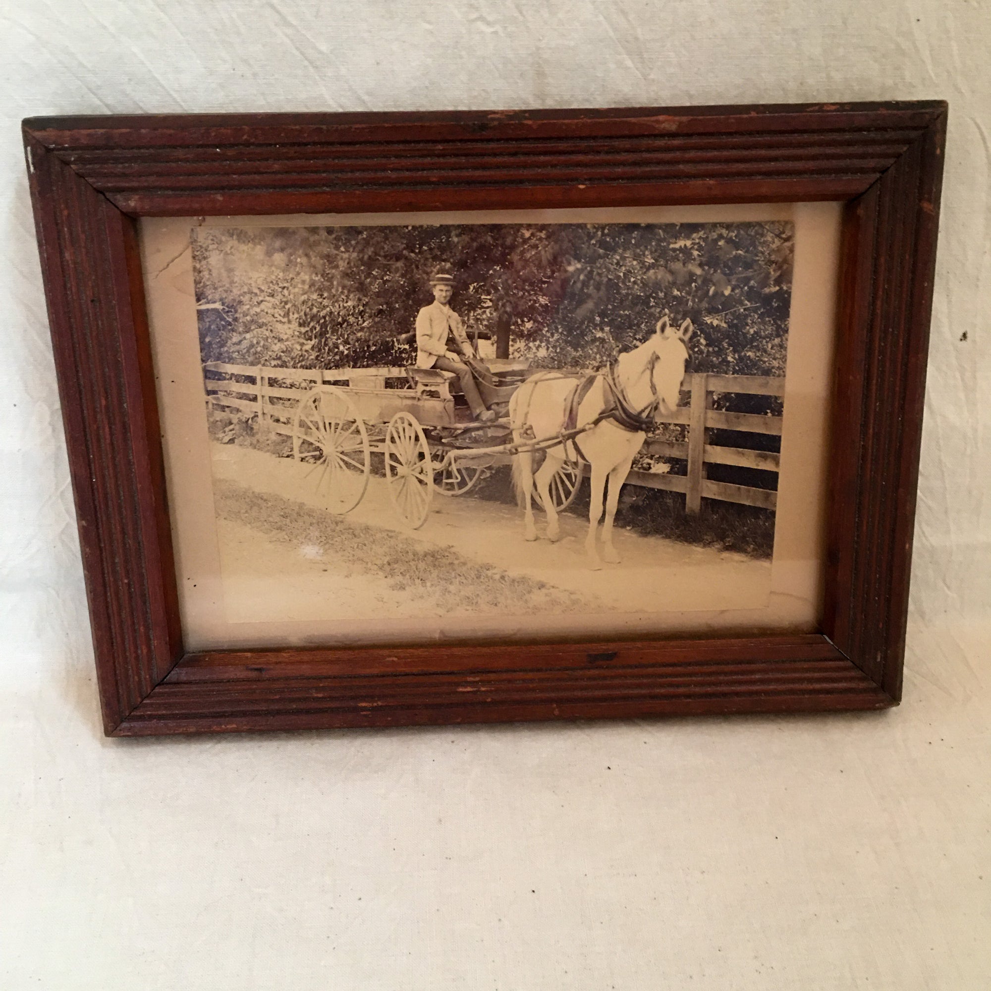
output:
[[[766,605],[790,221],[190,245],[230,621]]]

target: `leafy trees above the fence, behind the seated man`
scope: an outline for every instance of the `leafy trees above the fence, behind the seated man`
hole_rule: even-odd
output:
[[[792,225],[492,224],[198,228],[204,361],[397,365],[438,267],[469,332],[511,327],[512,353],[597,368],[665,313],[696,328],[692,369],[784,375]]]

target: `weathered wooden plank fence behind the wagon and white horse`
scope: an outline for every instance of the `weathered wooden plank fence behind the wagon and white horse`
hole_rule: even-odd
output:
[[[383,389],[387,379],[405,379],[405,369],[276,369],[264,366],[226,365],[209,362],[203,366],[207,403],[213,409],[236,409],[247,416],[258,416],[260,428],[292,435],[292,415],[304,389],[313,385],[349,385],[355,389]],[[274,383],[276,385],[274,385]],[[278,383],[291,385],[277,385]],[[687,406],[674,415],[658,417],[662,423],[688,427],[688,440],[648,441],[644,450],[663,458],[686,461],[685,475],[659,472],[630,472],[629,485],[664,489],[685,494],[685,511],[697,513],[703,498],[741,502],[764,509],[777,507],[778,494],[751,486],[714,482],[706,477],[707,465],[734,465],[765,472],[779,470],[780,455],[743,447],[721,447],[708,443],[707,430],[736,430],[742,433],[781,436],[780,416],[731,413],[713,408],[713,393],[751,395],[785,394],[785,380],[762,376],[687,376],[685,388],[691,394]]]

